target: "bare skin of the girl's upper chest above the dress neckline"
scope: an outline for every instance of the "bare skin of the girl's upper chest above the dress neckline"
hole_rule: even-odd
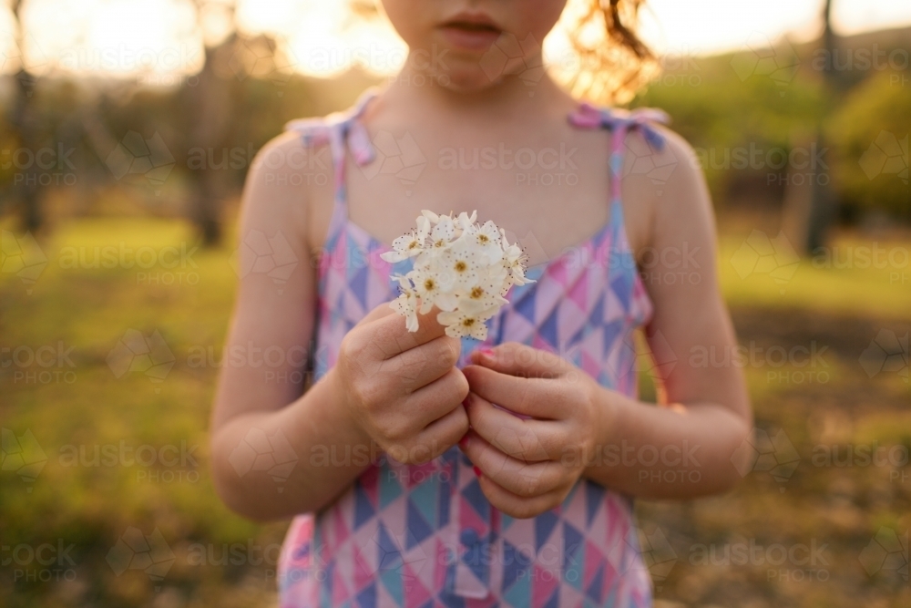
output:
[[[505,139],[505,138],[501,138]],[[569,129],[558,137],[421,137],[407,131],[372,134],[374,160],[348,155],[344,187],[312,191],[313,226],[325,234],[342,198],[348,219],[390,243],[415,225],[423,209],[474,211],[506,228],[528,263],[558,257],[609,222],[609,135]],[[646,243],[647,209],[621,201],[630,245]],[[323,228],[325,227],[325,229]]]

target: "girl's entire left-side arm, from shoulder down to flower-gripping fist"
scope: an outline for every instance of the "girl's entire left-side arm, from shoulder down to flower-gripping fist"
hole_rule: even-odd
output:
[[[210,441],[222,500],[258,520],[321,510],[384,453],[423,463],[468,428],[459,341],[433,314],[409,333],[388,304],[345,335],[335,365],[302,395],[308,361],[325,356],[309,352],[316,273],[307,242],[332,212],[311,204],[313,189],[292,185],[332,188],[328,153],[311,153],[319,151],[296,136],[275,140],[244,188],[241,282]],[[332,201],[332,191],[318,195]],[[270,274],[276,266],[287,272]]]

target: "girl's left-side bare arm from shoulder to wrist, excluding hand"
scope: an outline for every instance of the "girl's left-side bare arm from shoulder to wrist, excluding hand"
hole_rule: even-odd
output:
[[[325,152],[302,149],[296,136],[281,136],[254,160],[243,192],[240,282],[211,416],[211,459],[222,500],[253,519],[317,510],[368,464],[308,466],[316,446],[343,454],[345,446],[369,443],[347,411],[333,407],[332,383],[303,393],[316,278],[306,238],[312,192],[301,184],[332,183]],[[317,156],[302,156],[309,154]],[[292,164],[327,171],[326,179],[302,180]],[[253,265],[257,260],[261,267]],[[287,281],[273,280],[271,263],[289,265]],[[290,468],[276,476],[287,477],[283,483],[269,470],[281,464]]]

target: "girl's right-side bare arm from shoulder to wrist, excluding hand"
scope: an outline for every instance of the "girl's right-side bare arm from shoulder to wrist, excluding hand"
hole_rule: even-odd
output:
[[[740,479],[737,448],[751,432],[752,413],[742,370],[733,365],[737,343],[718,284],[708,189],[689,144],[664,134],[668,145],[659,154],[677,165],[660,186],[663,194],[652,196],[642,277],[655,309],[646,337],[665,407],[599,391],[599,407],[609,417],[597,439],[602,458],[585,475],[636,496],[689,498]],[[639,191],[650,187],[630,184]],[[621,456],[619,466],[607,465],[605,450]]]

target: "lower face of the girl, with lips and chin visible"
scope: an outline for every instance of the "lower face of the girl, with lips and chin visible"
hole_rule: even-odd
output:
[[[461,91],[540,67],[544,36],[567,0],[382,0],[411,49],[405,72]]]

